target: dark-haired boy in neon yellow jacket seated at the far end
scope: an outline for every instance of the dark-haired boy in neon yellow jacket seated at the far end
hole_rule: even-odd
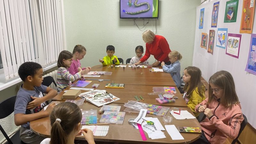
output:
[[[101,59],[99,60],[103,66],[106,66],[108,64],[116,64],[116,65],[120,64],[119,60],[117,59],[117,56],[114,55],[115,47],[113,45],[108,45],[106,52],[108,56],[105,56],[102,60]],[[112,62],[112,60],[114,60],[114,63]]]

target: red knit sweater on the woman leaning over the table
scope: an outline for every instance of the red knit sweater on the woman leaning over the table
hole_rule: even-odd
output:
[[[140,61],[144,62],[148,60],[152,54],[156,60],[168,62],[170,61],[168,58],[169,52],[171,52],[171,50],[166,39],[163,36],[156,35],[152,43],[146,43],[146,52]]]

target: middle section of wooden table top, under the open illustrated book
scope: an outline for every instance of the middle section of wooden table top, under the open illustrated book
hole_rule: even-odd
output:
[[[134,98],[135,95],[138,96],[142,96],[144,98],[143,100],[140,100],[140,102],[144,102],[144,103],[148,103],[148,104],[154,104],[154,105],[168,105],[168,106],[180,106],[180,107],[187,107],[187,104],[185,103],[184,99],[182,98],[182,95],[180,94],[180,91],[178,90],[178,88],[176,86],[172,86],[175,87],[176,89],[176,94],[175,96],[178,97],[178,99],[176,99],[176,101],[174,103],[167,103],[167,104],[160,104],[156,101],[156,98],[159,98],[158,95],[149,95],[148,93],[153,93],[152,88],[153,87],[163,87],[163,86],[153,86],[153,85],[124,85],[124,88],[105,88],[106,84],[97,82],[98,84],[100,84],[100,86],[98,88],[98,90],[106,90],[108,93],[113,94],[114,96],[118,97],[120,100],[114,101],[114,103],[126,103],[128,102],[128,100],[134,100],[136,101],[136,99]],[[95,84],[94,81],[92,81],[92,83],[88,84],[85,88],[92,88],[92,84]],[[166,85],[167,86],[167,85]],[[68,90],[70,88],[70,86],[68,88],[66,88],[65,90]],[[88,92],[88,91],[84,91],[81,90],[82,93],[83,92]],[[54,97],[52,100],[66,100],[66,99],[61,99],[62,95],[64,94],[64,91],[60,92],[56,97]],[[81,99],[80,97],[76,98],[77,100]]]

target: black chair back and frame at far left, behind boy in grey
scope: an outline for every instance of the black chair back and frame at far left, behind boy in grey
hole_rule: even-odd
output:
[[[16,95],[8,98],[0,103],[0,119],[3,119],[9,115],[12,114],[14,111],[14,105],[15,105]],[[0,131],[3,133],[6,140],[9,142],[9,144],[12,144],[12,141],[4,131],[3,127],[0,125]]]

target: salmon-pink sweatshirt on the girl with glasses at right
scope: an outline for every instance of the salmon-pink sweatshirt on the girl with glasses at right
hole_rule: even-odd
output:
[[[206,105],[208,98],[196,105]],[[227,137],[235,139],[240,130],[240,124],[244,117],[241,111],[240,104],[234,104],[232,108],[226,108],[220,105],[219,100],[214,99],[208,106],[212,110],[213,116],[205,119],[200,123],[205,137],[211,144],[224,143]]]

